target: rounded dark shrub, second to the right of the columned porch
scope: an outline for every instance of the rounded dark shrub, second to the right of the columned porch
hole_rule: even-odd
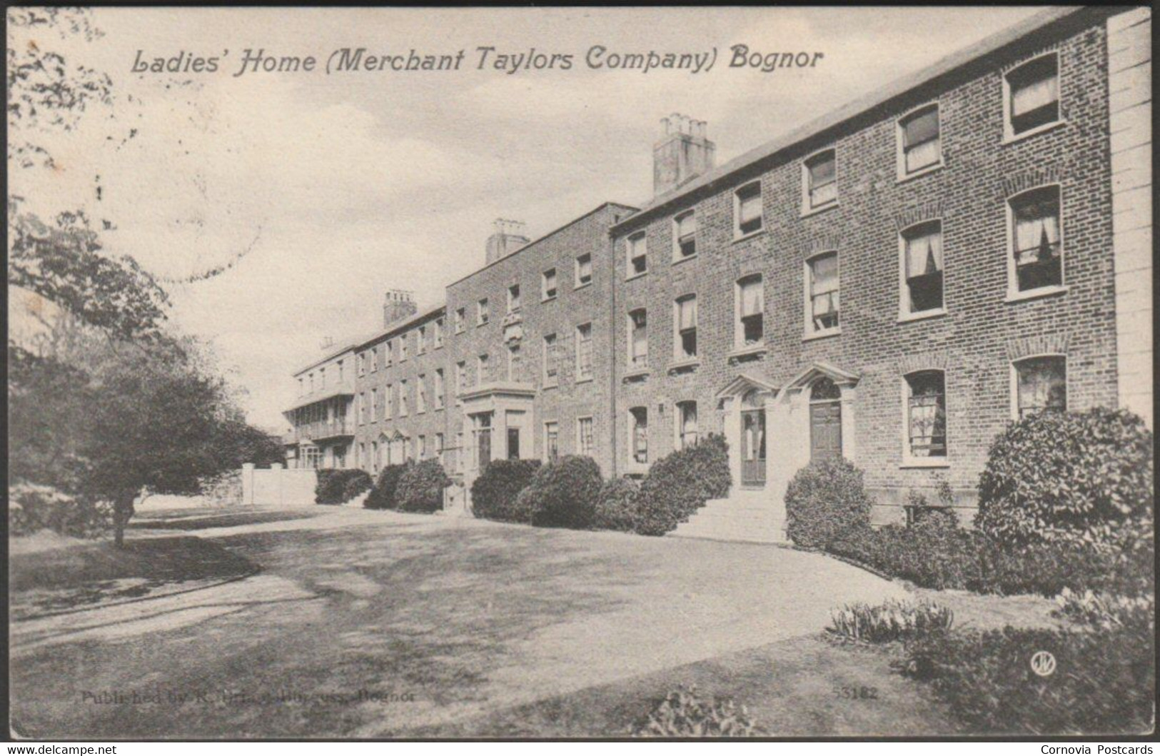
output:
[[[588,528],[603,479],[592,457],[567,455],[536,471],[519,496],[531,510],[531,524],[546,528]]]

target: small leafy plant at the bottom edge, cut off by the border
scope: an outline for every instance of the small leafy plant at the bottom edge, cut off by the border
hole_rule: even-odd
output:
[[[632,727],[633,737],[753,737],[763,734],[745,706],[731,698],[711,702],[697,695],[696,685],[679,686],[653,702],[652,711]]]

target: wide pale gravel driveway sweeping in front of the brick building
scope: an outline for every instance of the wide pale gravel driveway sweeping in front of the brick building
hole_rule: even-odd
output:
[[[390,735],[817,633],[836,604],[905,593],[754,544],[343,508],[197,523],[131,537],[180,525],[256,574],[14,625],[23,734]]]

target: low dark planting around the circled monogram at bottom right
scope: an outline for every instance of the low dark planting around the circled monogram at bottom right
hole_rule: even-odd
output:
[[[1037,652],[1056,671],[1031,670]],[[1154,623],[1111,630],[1006,627],[933,633],[907,645],[904,674],[929,683],[973,733],[1138,734],[1152,729]]]

